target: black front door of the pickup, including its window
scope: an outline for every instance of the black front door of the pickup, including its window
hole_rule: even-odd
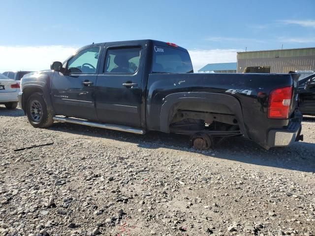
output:
[[[51,98],[57,115],[97,120],[95,85],[100,47],[78,52],[65,64],[64,74],[55,72]]]

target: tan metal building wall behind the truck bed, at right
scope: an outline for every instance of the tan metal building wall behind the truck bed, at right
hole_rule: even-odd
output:
[[[270,66],[271,73],[288,73],[296,70],[315,70],[315,50],[292,49],[237,54],[237,72],[248,66]]]

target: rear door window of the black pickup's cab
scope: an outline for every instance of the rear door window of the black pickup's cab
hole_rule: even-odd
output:
[[[104,73],[135,73],[139,68],[140,47],[107,49]]]

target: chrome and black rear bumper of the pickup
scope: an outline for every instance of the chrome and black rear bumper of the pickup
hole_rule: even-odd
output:
[[[295,111],[294,118],[291,118],[289,124],[280,129],[271,129],[268,132],[268,147],[285,147],[293,144],[300,139],[302,114]]]

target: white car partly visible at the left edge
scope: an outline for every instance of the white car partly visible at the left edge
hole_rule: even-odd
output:
[[[7,109],[15,109],[18,105],[18,94],[20,84],[0,74],[0,104],[4,104]]]

